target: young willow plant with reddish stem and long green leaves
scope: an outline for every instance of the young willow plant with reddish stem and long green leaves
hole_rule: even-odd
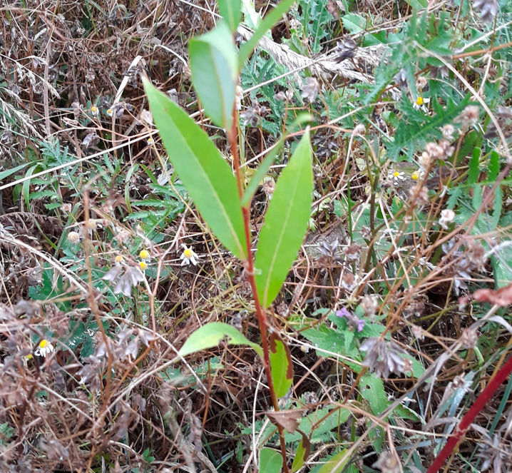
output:
[[[286,395],[292,386],[293,367],[290,350],[277,331],[268,334],[270,320],[265,310],[285,282],[307,230],[313,191],[311,144],[309,131],[306,131],[277,181],[254,261],[250,204],[272,162],[273,153],[271,151],[265,158],[253,181],[244,188],[237,148],[235,93],[243,63],[257,41],[292,4],[293,0],[283,0],[277,5],[261,21],[252,38],[242,45],[238,55],[233,35],[240,21],[240,0],[220,0],[224,21],[213,31],[190,41],[190,69],[195,91],[205,113],[227,133],[235,174],[203,129],[144,79],[155,125],[175,171],[213,233],[245,265],[262,338],[260,347],[230,325],[212,322],[190,335],[180,354],[215,347],[221,340],[252,347],[262,357],[275,411],[279,410],[278,398]],[[287,472],[284,429],[279,422],[275,423],[280,433],[282,467]]]

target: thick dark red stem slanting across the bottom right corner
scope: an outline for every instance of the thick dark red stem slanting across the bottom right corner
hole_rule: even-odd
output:
[[[462,436],[466,433],[466,430],[473,422],[473,419],[476,417],[476,414],[481,412],[483,407],[487,404],[487,402],[491,399],[493,394],[498,390],[501,383],[506,380],[508,375],[512,372],[512,356],[508,358],[508,361],[501,367],[496,373],[496,376],[489,382],[486,389],[481,392],[481,395],[478,396],[475,403],[470,407],[469,411],[466,412],[466,415],[462,418],[461,423],[456,427],[454,435],[448,439],[446,445],[441,450],[439,455],[434,460],[434,463],[431,465],[429,470],[426,473],[437,473],[441,469],[444,464],[444,460],[448,458],[449,454],[453,452],[456,444],[458,444],[462,438]]]

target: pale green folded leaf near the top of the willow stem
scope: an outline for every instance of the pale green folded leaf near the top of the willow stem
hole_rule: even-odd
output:
[[[237,56],[225,22],[189,44],[190,71],[206,113],[217,126],[230,129],[235,105]]]

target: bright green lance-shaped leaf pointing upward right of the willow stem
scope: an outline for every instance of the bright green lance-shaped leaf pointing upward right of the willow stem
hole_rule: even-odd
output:
[[[263,307],[275,299],[297,257],[311,213],[312,193],[311,145],[307,132],[277,181],[260,232],[255,279]]]

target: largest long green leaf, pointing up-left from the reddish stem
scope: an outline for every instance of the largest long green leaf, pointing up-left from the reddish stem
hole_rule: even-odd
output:
[[[222,245],[247,258],[237,183],[208,135],[185,111],[144,80],[155,125],[181,182]]]

